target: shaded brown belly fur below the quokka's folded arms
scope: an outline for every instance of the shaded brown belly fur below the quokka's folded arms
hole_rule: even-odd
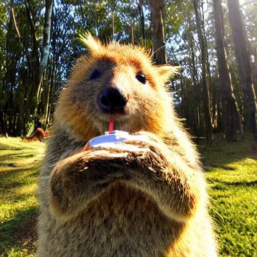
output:
[[[116,184],[75,219],[43,227],[51,232],[42,252],[51,256],[165,256],[185,224],[167,219],[144,193]]]

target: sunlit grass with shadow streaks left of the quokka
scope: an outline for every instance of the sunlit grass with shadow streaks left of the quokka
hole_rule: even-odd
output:
[[[0,256],[35,256],[36,198],[44,143],[0,138]]]

